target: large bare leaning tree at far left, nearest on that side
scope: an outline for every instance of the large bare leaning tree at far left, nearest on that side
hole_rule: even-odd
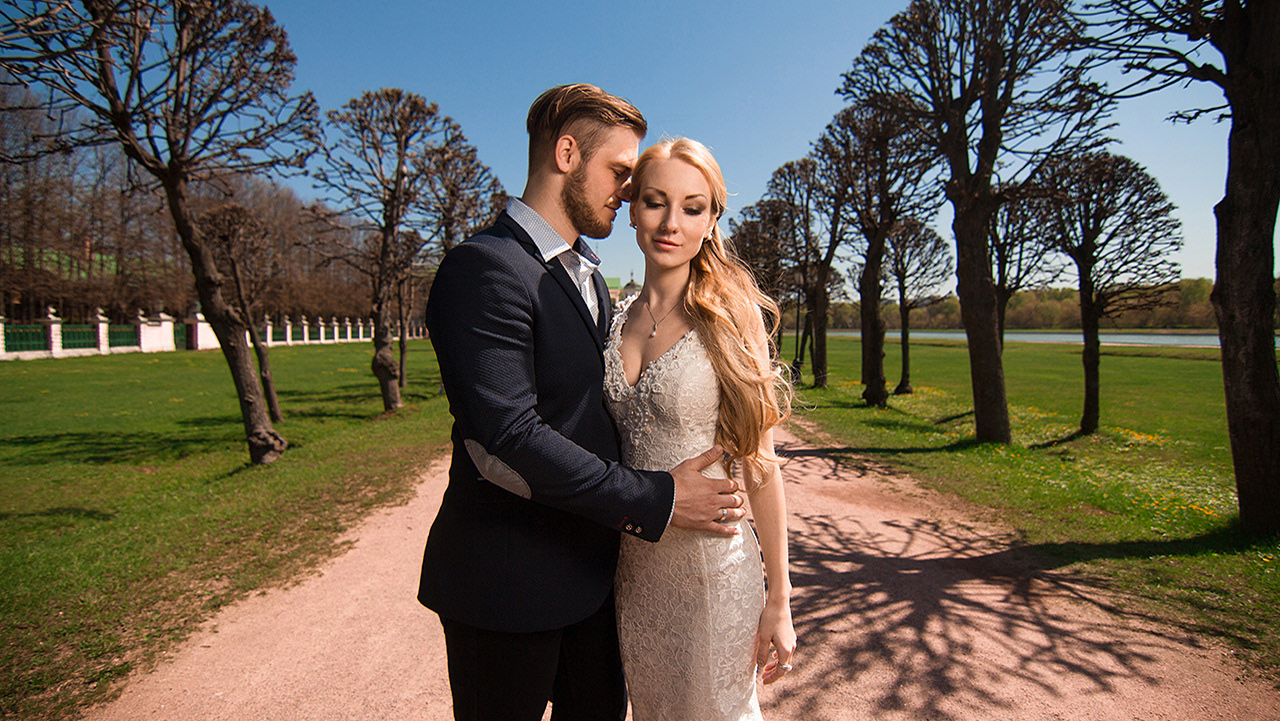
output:
[[[164,192],[196,291],[221,343],[255,464],[287,443],[271,426],[244,341],[250,319],[224,296],[204,241],[192,183],[301,166],[312,151],[315,101],[291,95],[294,55],[271,14],[243,0],[131,0],[10,6],[27,27],[10,42],[10,72],[47,91],[49,111],[87,118],[59,128],[65,146],[114,143]],[[28,23],[28,24],[24,24]]]

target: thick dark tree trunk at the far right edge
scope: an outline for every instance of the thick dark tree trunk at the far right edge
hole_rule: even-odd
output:
[[[1254,18],[1254,23],[1263,19]],[[1274,82],[1280,72],[1277,44],[1270,40],[1268,47],[1262,47],[1263,38],[1257,36],[1276,31],[1253,29],[1251,53],[1271,55],[1265,65]],[[1260,68],[1253,69],[1261,74]],[[1236,70],[1238,76],[1244,73]],[[1226,195],[1213,207],[1217,280],[1210,298],[1222,346],[1226,425],[1240,523],[1247,533],[1262,535],[1280,533],[1280,377],[1272,278],[1280,204],[1280,100],[1274,97],[1275,90],[1260,85],[1242,78],[1231,97]]]

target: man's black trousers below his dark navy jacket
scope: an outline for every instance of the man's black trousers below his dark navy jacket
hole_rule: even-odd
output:
[[[627,712],[613,594],[563,629],[511,634],[442,617],[457,721],[622,721]]]

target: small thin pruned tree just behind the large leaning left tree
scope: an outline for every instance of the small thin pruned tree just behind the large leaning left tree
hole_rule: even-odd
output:
[[[262,297],[279,278],[280,259],[271,243],[266,225],[243,205],[227,202],[200,215],[197,225],[214,251],[218,270],[232,279],[228,288],[241,316],[248,319],[246,330],[257,356],[257,377],[271,420],[284,420],[280,400],[275,394],[271,359],[257,332],[255,318],[262,318]]]

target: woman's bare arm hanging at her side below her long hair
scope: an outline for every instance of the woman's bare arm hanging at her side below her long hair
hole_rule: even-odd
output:
[[[773,430],[760,441],[764,457],[773,456]],[[764,576],[768,594],[755,638],[755,663],[764,668],[764,683],[777,681],[791,670],[796,648],[796,631],[791,624],[791,574],[787,570],[787,501],[782,490],[782,473],[776,462],[764,464],[764,478],[755,478],[750,464],[742,464],[742,476],[751,501],[751,516],[760,537]],[[772,652],[777,654],[771,660]]]

